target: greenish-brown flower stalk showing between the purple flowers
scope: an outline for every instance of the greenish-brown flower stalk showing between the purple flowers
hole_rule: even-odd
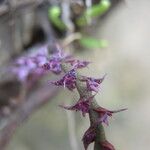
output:
[[[64,72],[68,72],[70,70],[70,66],[68,64],[63,63],[62,68]],[[82,76],[77,73],[77,90],[80,95],[80,97],[91,97],[92,96],[92,91],[87,90],[86,84],[81,81]],[[99,105],[96,102],[96,99],[93,97],[93,100],[90,103],[90,110],[89,110],[89,118],[90,118],[90,130],[94,133],[89,133],[88,136],[92,136],[92,140],[90,138],[87,139],[86,141],[86,133],[83,136],[83,144],[85,147],[85,150],[87,150],[87,147],[90,143],[95,142],[94,144],[94,150],[107,150],[106,148],[104,149],[100,143],[106,142],[106,136],[105,136],[105,131],[102,123],[97,124],[97,120],[99,118],[99,115],[94,109],[99,108]],[[114,150],[114,149],[108,149],[108,150]]]

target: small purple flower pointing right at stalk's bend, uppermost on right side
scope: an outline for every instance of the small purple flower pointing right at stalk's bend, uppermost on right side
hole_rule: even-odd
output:
[[[80,69],[80,68],[87,67],[90,62],[75,59],[75,60],[68,60],[66,61],[66,63],[70,63],[71,66],[73,66],[73,68]]]

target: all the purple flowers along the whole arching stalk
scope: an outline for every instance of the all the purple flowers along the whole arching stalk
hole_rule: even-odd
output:
[[[81,76],[81,78],[78,78],[77,69],[87,67],[90,62],[73,59],[70,55],[62,52],[58,46],[56,47],[57,50],[51,55],[48,53],[48,48],[45,47],[44,49],[41,49],[42,51],[36,54],[32,54],[32,56],[18,59],[15,62],[15,66],[12,70],[17,74],[21,81],[26,81],[31,75],[33,75],[35,78],[49,72],[52,72],[56,75],[61,74],[63,72],[63,65],[70,64],[70,70],[66,72],[59,80],[50,81],[50,84],[61,86],[67,88],[70,91],[73,91],[77,88],[77,80],[81,83],[85,83],[86,92],[88,93],[87,95],[82,95],[82,93],[79,91],[80,98],[76,104],[73,106],[60,106],[67,110],[80,111],[83,117],[91,111],[97,114],[96,121],[91,123],[91,126],[85,132],[82,139],[84,148],[87,150],[89,144],[98,141],[96,139],[96,130],[98,129],[98,125],[102,123],[108,125],[108,118],[111,117],[113,113],[124,111],[126,109],[110,111],[100,106],[95,107],[95,105],[91,105],[95,97],[95,95],[92,95],[92,92],[95,92],[96,94],[99,91],[100,85],[103,82],[105,76],[102,78],[92,78],[86,76]],[[107,140],[100,141],[98,144],[103,150],[115,150],[113,145],[110,144]]]

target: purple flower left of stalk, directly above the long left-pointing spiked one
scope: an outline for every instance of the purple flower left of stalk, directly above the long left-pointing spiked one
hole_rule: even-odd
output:
[[[56,86],[64,86],[72,91],[76,88],[76,76],[77,75],[75,69],[72,69],[69,72],[67,72],[60,80],[51,83]]]

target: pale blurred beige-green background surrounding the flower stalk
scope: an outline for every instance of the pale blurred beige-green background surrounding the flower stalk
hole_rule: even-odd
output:
[[[97,39],[107,40],[107,48],[73,51],[77,58],[92,62],[89,68],[81,71],[82,74],[101,77],[107,73],[96,95],[98,103],[110,110],[128,108],[125,112],[115,114],[110,118],[110,125],[105,126],[107,138],[116,150],[147,150],[150,145],[149,8],[149,0],[125,0],[90,33]],[[0,33],[3,31],[4,26],[1,25]],[[1,62],[4,56],[5,60],[8,56],[8,51],[2,46],[7,38],[0,39]],[[75,122],[72,134],[76,136],[77,149],[83,150],[81,139],[89,127],[88,118],[58,107],[62,103],[73,104],[77,98],[76,93],[62,90],[21,125],[7,150],[72,150],[68,130],[70,116],[70,121]],[[92,144],[89,149],[92,150]]]

